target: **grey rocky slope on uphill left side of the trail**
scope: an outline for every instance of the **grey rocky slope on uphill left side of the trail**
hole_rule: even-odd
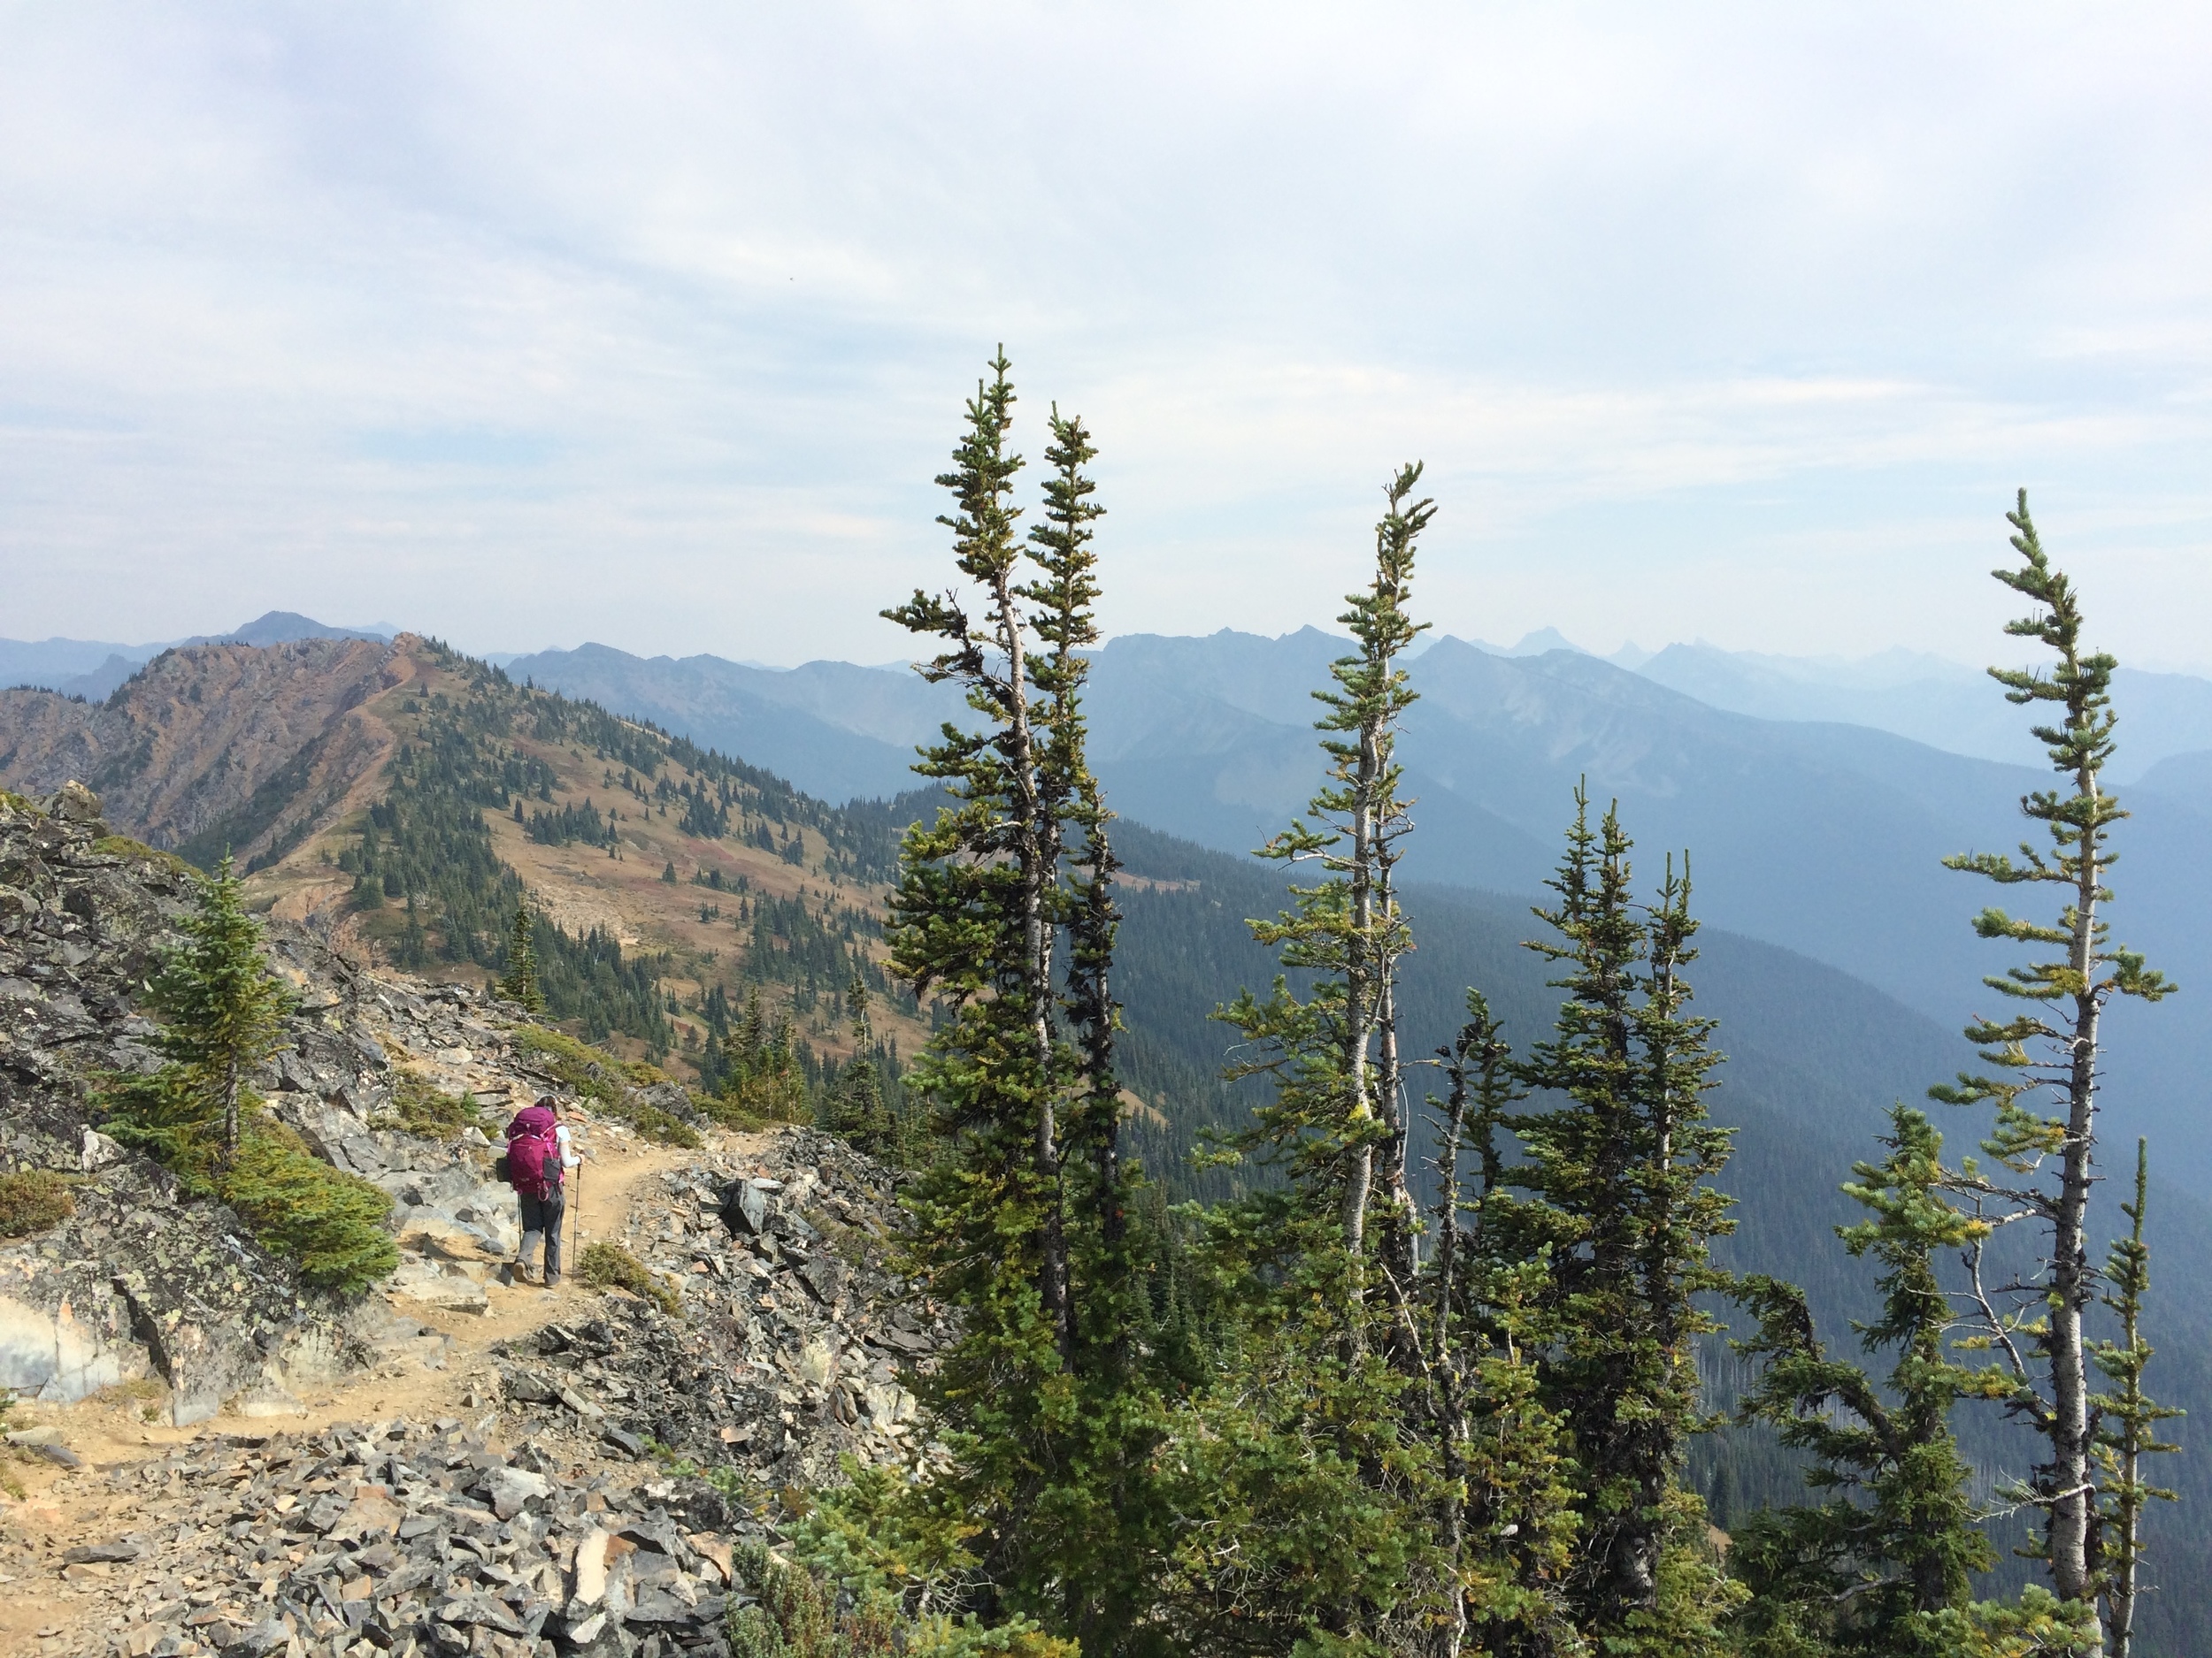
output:
[[[274,922],[296,1012],[257,1088],[319,1156],[392,1194],[403,1251],[383,1295],[345,1307],[303,1291],[230,1209],[179,1203],[166,1169],[93,1130],[97,1079],[157,1063],[133,993],[177,942],[190,891],[175,858],[108,836],[86,789],[0,796],[0,1165],[80,1176],[69,1220],[0,1245],[0,1388],[73,1402],[155,1379],[186,1426],[226,1406],[299,1415],[363,1366],[442,1366],[451,1342],[407,1309],[487,1309],[520,1242],[515,1198],[491,1180],[482,1127],[409,1132],[405,1105],[465,1096],[498,1134],[557,1079],[515,1048],[520,1008],[372,975],[316,926]],[[675,1085],[626,1103],[690,1112]],[[635,1141],[588,1110],[573,1121],[586,1154]]]

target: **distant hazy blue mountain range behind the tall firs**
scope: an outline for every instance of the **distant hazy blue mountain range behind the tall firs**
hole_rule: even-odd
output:
[[[1256,847],[1318,780],[1310,692],[1340,650],[1318,628],[1108,643],[1091,712],[1115,809],[1221,851]],[[522,657],[509,672],[644,714],[827,798],[907,787],[911,745],[962,712],[911,674],[845,663],[776,672],[593,646]],[[1416,880],[1537,891],[1575,783],[1588,778],[1599,805],[1619,798],[1650,875],[1666,851],[1692,851],[1697,909],[1714,926],[1827,962],[1944,1028],[1993,1008],[1980,977],[2013,957],[1975,940],[1969,917],[1995,893],[1940,860],[2013,847],[2026,827],[2017,800],[2046,787],[2046,772],[1867,725],[1719,710],[1573,650],[1506,657],[1442,639],[1411,672],[1422,692],[1405,747],[1420,796]],[[1980,694],[2026,723],[1991,681]],[[2126,701],[2121,718],[2132,721]],[[2212,986],[2201,862],[2212,763],[2163,758],[2128,802],[2115,933],[2148,948],[2183,995],[2115,1012],[2112,1132],[2150,1132],[2170,1172],[2212,1178],[2212,1021],[2192,1006],[2212,995],[2199,988]]]

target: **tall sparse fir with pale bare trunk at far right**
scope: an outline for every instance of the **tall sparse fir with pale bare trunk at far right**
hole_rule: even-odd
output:
[[[1997,995],[2026,1006],[2013,1019],[1966,1026],[1966,1039],[1982,1050],[1991,1072],[1962,1074],[1955,1085],[1929,1092],[1953,1105],[1995,1105],[1995,1125],[1982,1145],[1995,1167],[1969,1163],[1951,1187],[1993,1209],[1993,1218],[2033,1220],[2042,1229],[2037,1267],[2015,1284],[1989,1289],[1986,1337],[2013,1375],[2008,1408],[2046,1446],[2026,1497],[2044,1510],[2039,1550],[2048,1561],[2051,1589],[2062,1603],[2088,1607],[2106,1583],[2097,1536],[2097,1402],[2084,1329],[2097,1300],[2088,1200],[2097,1180],[2099,1021],[2115,995],[2159,1001],[2172,986],[2137,951],[2112,944],[2099,913],[2099,904],[2112,898],[2106,886],[2112,825],[2128,816],[2104,787],[2104,767],[2112,758],[2117,661],[2084,650],[2081,604],[2066,575],[2051,568],[2028,517],[2026,491],[2020,491],[2017,511],[2006,520],[2020,568],[1993,575],[2035,606],[2006,623],[2006,632],[2048,646],[2057,663],[2048,672],[1989,672],[2004,685],[2008,703],[2055,705],[2053,723],[2033,732],[2066,787],[2035,791],[2020,802],[2020,811],[2044,827],[2046,847],[2022,842],[2017,860],[1969,853],[1944,864],[2000,886],[2057,886],[2062,904],[2051,922],[2020,920],[2002,909],[1975,915],[1973,928],[1982,937],[2048,946],[2051,955],[1984,979]],[[2044,1090],[2055,1101],[2051,1112],[2031,1103]]]

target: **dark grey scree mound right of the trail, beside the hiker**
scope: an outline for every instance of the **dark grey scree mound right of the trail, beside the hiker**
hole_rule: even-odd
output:
[[[933,1368],[949,1326],[891,1267],[894,1180],[812,1130],[670,1169],[619,1242],[681,1313],[608,1295],[509,1342],[509,1404],[555,1444],[653,1441],[761,1486],[834,1479],[847,1452],[931,1459],[907,1377]]]

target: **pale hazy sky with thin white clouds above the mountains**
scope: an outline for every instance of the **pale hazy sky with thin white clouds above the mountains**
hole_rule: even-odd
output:
[[[1004,340],[1113,630],[2212,665],[2205,7],[0,7],[0,634],[880,661]]]

